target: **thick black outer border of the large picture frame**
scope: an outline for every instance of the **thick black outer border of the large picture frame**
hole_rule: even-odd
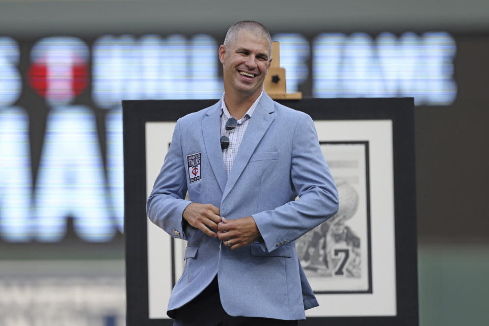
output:
[[[146,199],[149,194],[146,191],[145,124],[157,121],[176,121],[188,113],[201,110],[215,102],[216,100],[127,100],[122,102],[126,323],[128,326],[171,325],[173,322],[171,319],[149,318],[146,215]],[[419,317],[413,98],[311,98],[279,102],[309,114],[313,120],[392,121],[396,314],[394,316],[308,317],[301,324],[417,326]],[[375,284],[373,287],[375,288]]]

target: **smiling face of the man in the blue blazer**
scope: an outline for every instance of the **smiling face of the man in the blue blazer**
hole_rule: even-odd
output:
[[[241,31],[228,47],[219,48],[225,90],[248,96],[260,92],[271,62],[268,38]]]

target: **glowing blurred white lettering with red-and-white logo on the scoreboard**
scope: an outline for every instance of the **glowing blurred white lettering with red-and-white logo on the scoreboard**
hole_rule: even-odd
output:
[[[450,105],[457,94],[456,45],[444,32],[273,38],[281,44],[287,92],[309,80],[305,93],[320,98],[412,96],[417,105]],[[0,37],[0,237],[60,241],[68,216],[85,241],[110,241],[123,232],[121,100],[219,99],[218,46],[204,34],[105,35],[90,44],[46,37],[32,45],[29,64],[21,66],[25,47]],[[25,87],[48,108],[36,171],[29,114],[36,107],[17,103]],[[90,100],[80,101],[87,91]],[[105,111],[104,153],[95,110]]]

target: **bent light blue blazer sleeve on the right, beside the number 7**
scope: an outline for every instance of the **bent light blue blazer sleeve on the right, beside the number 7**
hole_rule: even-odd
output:
[[[292,140],[291,182],[299,199],[253,214],[268,252],[289,243],[338,211],[338,191],[311,117],[302,114]]]

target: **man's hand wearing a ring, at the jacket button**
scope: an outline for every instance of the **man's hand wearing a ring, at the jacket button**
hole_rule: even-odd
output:
[[[218,237],[226,247],[231,244],[231,250],[247,246],[259,236],[260,231],[252,216],[234,220],[223,218],[223,222],[218,224]]]

